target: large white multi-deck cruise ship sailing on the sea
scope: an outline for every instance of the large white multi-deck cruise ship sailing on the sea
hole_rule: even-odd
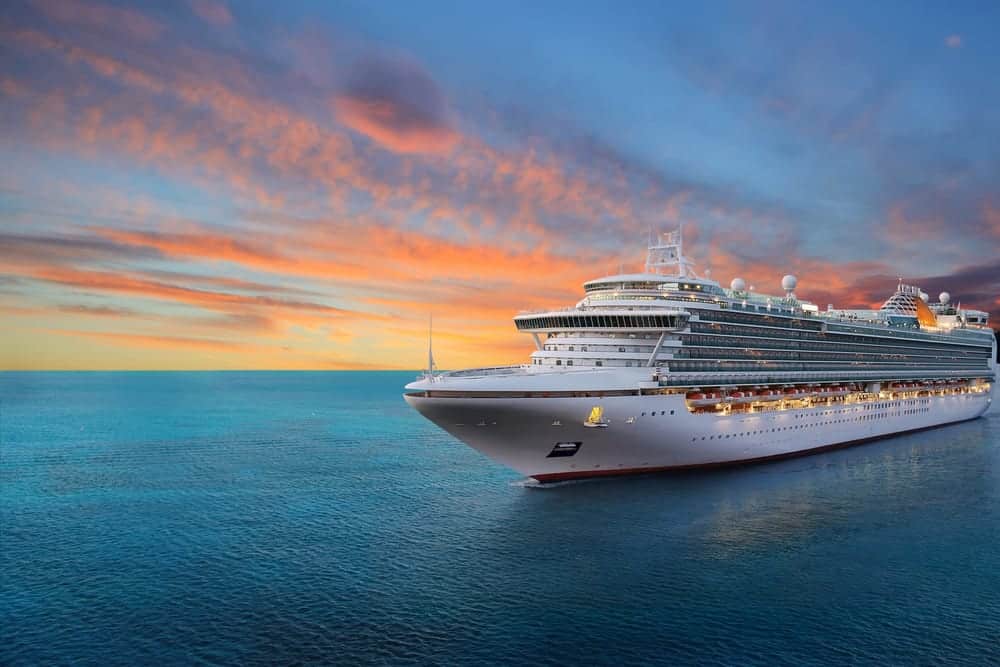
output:
[[[699,277],[681,230],[645,270],[591,280],[570,308],[521,313],[529,363],[406,385],[424,417],[548,483],[760,462],[981,416],[996,381],[988,314],[900,284],[878,309],[821,310]]]

